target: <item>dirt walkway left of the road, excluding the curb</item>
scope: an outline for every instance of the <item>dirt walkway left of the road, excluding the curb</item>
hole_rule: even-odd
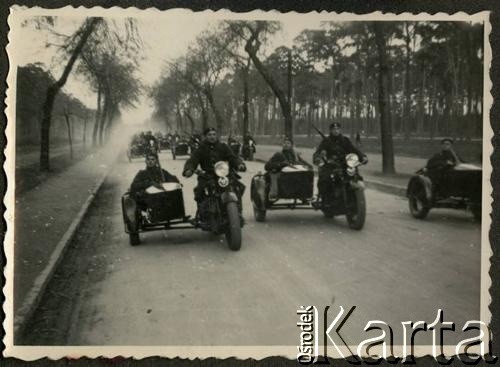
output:
[[[19,308],[58,242],[112,159],[88,155],[15,197],[14,309]],[[12,230],[12,229],[11,229]],[[7,244],[8,245],[8,244]]]

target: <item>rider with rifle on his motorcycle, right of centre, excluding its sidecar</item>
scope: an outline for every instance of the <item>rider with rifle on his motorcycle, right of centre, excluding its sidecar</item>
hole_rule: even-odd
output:
[[[313,155],[319,167],[316,205],[327,218],[345,214],[349,227],[361,229],[366,217],[363,178],[357,167],[368,159],[341,134],[338,122],[330,125],[330,135],[324,137]]]

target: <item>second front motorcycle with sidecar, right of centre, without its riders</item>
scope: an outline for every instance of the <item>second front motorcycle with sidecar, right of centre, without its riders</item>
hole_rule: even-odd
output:
[[[356,154],[347,154],[344,162],[322,161],[319,166],[330,172],[327,197],[313,197],[314,172],[300,165],[285,167],[278,173],[276,198],[269,196],[270,174],[257,174],[252,178],[250,192],[255,220],[265,221],[268,210],[314,209],[321,210],[327,218],[345,215],[350,228],[362,229],[366,200],[358,171],[361,164]]]

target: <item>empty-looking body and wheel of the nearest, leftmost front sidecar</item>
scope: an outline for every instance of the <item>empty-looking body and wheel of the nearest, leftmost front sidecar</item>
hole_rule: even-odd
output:
[[[164,183],[163,189],[151,186],[140,198],[133,199],[130,192],[122,196],[123,222],[130,245],[140,243],[142,232],[195,227],[184,211],[182,186]]]

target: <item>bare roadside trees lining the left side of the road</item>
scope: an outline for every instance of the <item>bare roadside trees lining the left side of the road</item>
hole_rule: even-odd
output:
[[[43,104],[40,116],[40,169],[50,169],[50,137],[58,96],[72,73],[82,76],[96,93],[97,110],[93,114],[92,145],[102,145],[113,126],[120,121],[120,111],[133,107],[142,85],[135,76],[142,41],[136,21],[90,17],[71,34],[62,33],[58,17],[34,17],[24,26],[46,32],[47,47],[56,49],[56,61],[62,72],[41,89]],[[21,100],[24,97],[21,96]],[[19,101],[19,99],[18,99]],[[70,112],[63,113],[69,126]],[[86,125],[85,125],[86,127]],[[71,142],[71,135],[68,135]]]

